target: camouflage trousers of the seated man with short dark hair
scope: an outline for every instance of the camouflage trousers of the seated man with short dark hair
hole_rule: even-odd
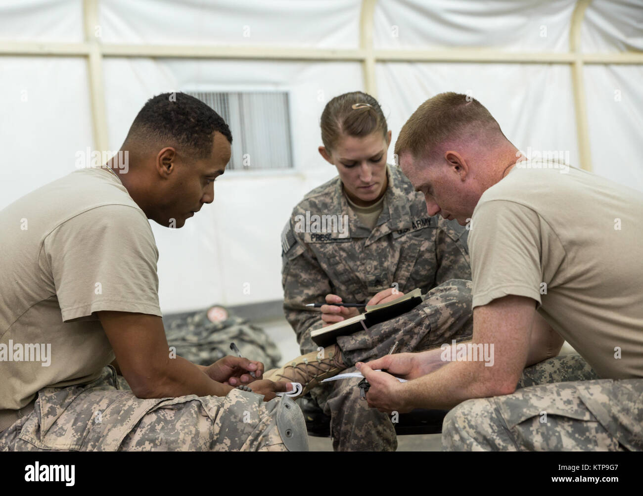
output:
[[[91,384],[41,389],[33,412],[0,433],[0,451],[287,451],[293,443],[282,432],[307,450],[290,398],[264,402],[233,389],[141,400],[108,366]]]

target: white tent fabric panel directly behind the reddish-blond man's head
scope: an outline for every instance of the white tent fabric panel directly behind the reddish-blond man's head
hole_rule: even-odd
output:
[[[520,150],[568,151],[578,163],[568,66],[390,62],[378,64],[377,84],[380,100],[396,103],[388,118],[394,139],[426,98],[455,91],[482,102]]]

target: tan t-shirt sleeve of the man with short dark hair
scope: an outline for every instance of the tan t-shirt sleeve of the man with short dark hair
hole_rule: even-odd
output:
[[[137,209],[105,205],[81,213],[45,238],[44,252],[63,321],[100,310],[162,315],[158,249]]]

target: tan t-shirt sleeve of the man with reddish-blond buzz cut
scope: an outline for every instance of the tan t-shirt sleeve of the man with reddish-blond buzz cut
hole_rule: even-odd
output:
[[[540,222],[536,212],[515,202],[478,205],[469,232],[473,307],[510,294],[541,303]]]

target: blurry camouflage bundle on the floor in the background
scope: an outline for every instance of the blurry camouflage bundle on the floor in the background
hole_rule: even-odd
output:
[[[281,361],[281,353],[275,342],[262,328],[234,316],[213,323],[207,314],[207,310],[203,310],[194,314],[163,317],[168,344],[176,348],[179,357],[208,366],[226,355],[232,355],[230,343],[234,342],[241,355],[262,362],[265,370],[275,368]]]

